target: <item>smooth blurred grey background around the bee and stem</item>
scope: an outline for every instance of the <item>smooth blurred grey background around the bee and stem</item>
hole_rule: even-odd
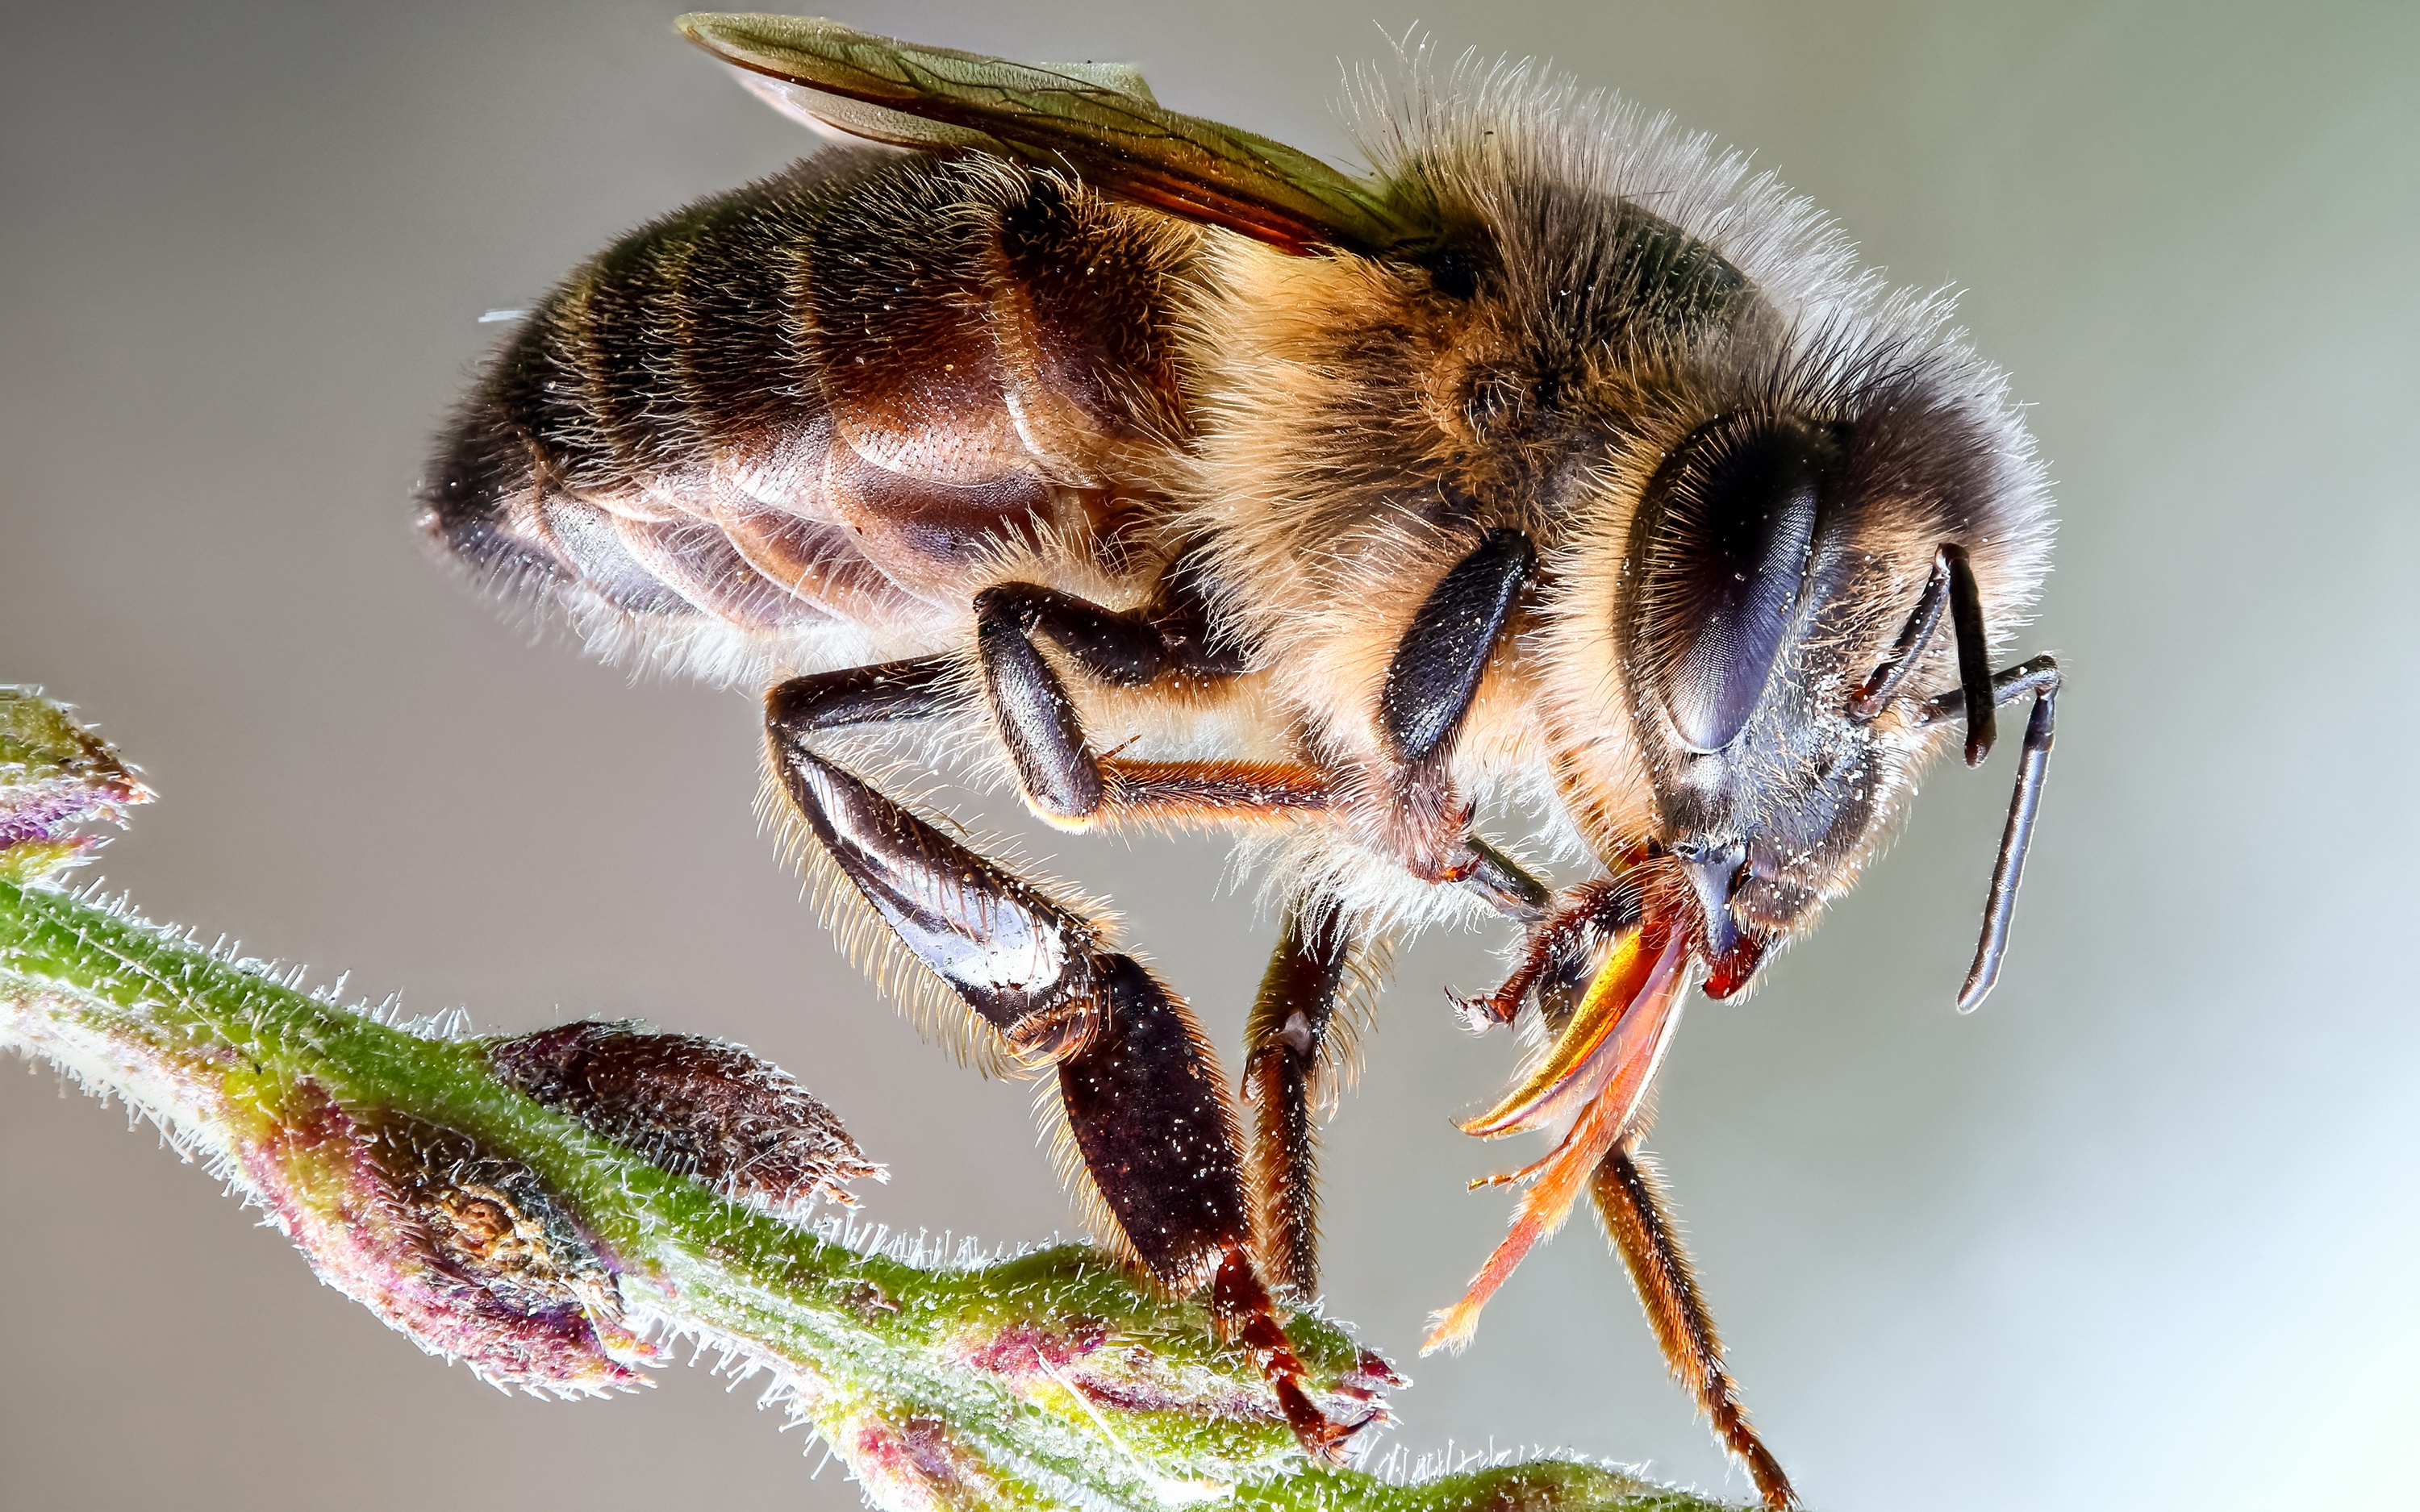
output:
[[[1972,1018],[2009,755],[1745,1006],[1699,1004],[1660,1149],[1747,1401],[1817,1507],[2410,1495],[2420,849],[2420,10],[2408,5],[888,5],[1133,58],[1326,155],[1338,60],[1423,22],[1750,148],[1897,281],[1967,285],[2057,474],[2026,651],[2069,668],[2016,956]],[[162,919],[482,1026],[745,1040],[888,1161],[893,1227],[1070,1224],[1031,1093],[956,1069],[757,835],[748,697],[532,646],[407,491],[499,327],[622,227],[808,150],[673,7],[0,10],[0,680],[160,803]],[[1377,24],[1372,24],[1377,22]],[[1270,931],[1215,844],[1055,842],[1234,1045]],[[1447,1123],[1500,1086],[1423,941],[1326,1142],[1331,1309],[1413,1449],[1566,1444],[1745,1495],[1575,1222],[1413,1360],[1503,1234]],[[1229,1050],[1232,1064],[1232,1050]],[[116,1110],[0,1067],[0,1505],[852,1507],[704,1369],[503,1398],[312,1282]]]

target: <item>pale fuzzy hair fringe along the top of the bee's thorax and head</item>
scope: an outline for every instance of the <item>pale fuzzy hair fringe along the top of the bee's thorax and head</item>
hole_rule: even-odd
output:
[[[1537,293],[1602,261],[1607,237],[1621,235],[1621,203],[1667,220],[1716,249],[1769,310],[1728,348],[1694,353],[1721,389],[1817,416],[1914,397],[1992,455],[1977,503],[1994,530],[1980,556],[2016,588],[1994,605],[1994,636],[2021,622],[2050,561],[2047,474],[2006,373],[1951,324],[1953,288],[1892,288],[1808,196],[1670,114],[1527,58],[1467,51],[1440,68],[1425,39],[1396,53],[1392,70],[1350,73],[1348,131],[1387,194],[1498,237],[1505,293],[1532,305],[1532,329],[1551,322]]]

